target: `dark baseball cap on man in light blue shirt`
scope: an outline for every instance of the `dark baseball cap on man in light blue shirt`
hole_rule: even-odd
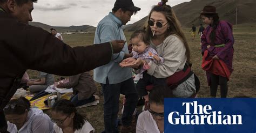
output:
[[[125,8],[130,11],[139,11],[140,8],[134,6],[132,0],[117,0],[114,3],[114,8]]]

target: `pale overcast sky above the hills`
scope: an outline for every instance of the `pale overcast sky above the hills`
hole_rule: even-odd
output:
[[[167,4],[174,6],[190,0],[169,0]],[[33,21],[51,26],[97,26],[113,8],[115,0],[38,0],[32,11]],[[140,11],[131,17],[128,24],[132,24],[147,16],[159,1],[133,0]]]

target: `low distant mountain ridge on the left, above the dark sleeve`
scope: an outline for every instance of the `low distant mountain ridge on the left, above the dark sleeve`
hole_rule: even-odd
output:
[[[96,27],[90,26],[90,25],[82,25],[82,26],[50,26],[39,22],[29,22],[30,25],[41,27],[46,31],[50,31],[50,28],[55,28],[57,32],[80,32],[87,31],[87,32],[95,32]]]

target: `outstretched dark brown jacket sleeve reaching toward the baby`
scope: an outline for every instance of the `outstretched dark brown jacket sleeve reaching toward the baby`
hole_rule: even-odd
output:
[[[15,28],[22,29],[14,34],[11,49],[26,69],[70,76],[107,64],[112,57],[109,42],[71,48],[42,28],[22,24]]]

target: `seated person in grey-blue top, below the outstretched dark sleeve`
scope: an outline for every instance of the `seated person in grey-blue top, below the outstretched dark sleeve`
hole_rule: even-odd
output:
[[[31,93],[37,93],[45,90],[49,85],[54,84],[54,77],[51,74],[38,71],[39,79],[31,79],[28,83],[29,91]]]

